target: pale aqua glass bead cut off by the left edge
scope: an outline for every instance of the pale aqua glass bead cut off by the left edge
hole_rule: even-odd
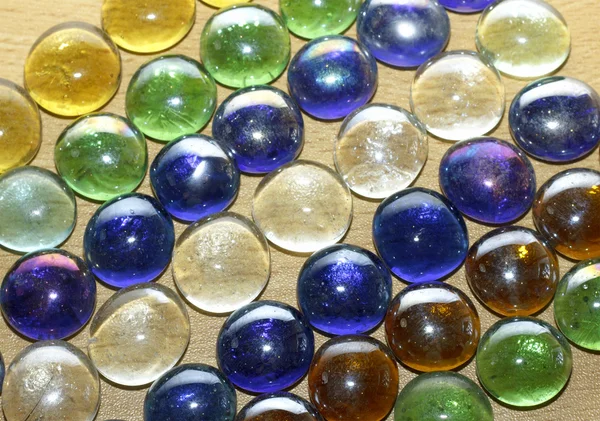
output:
[[[0,176],[0,245],[20,253],[56,247],[76,219],[75,195],[56,174],[26,166]]]

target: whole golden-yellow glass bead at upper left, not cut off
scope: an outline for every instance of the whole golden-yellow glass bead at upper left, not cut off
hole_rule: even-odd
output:
[[[119,50],[104,31],[67,22],[44,32],[25,62],[25,87],[46,110],[72,117],[105,105],[121,82]]]

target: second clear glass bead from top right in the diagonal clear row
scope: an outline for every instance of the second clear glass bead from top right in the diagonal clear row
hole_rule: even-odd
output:
[[[410,106],[432,135],[466,140],[498,125],[504,114],[504,84],[481,55],[450,51],[419,67],[410,89]]]

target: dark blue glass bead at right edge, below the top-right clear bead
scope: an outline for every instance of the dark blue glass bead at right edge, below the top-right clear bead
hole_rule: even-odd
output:
[[[600,142],[600,97],[580,80],[543,78],[515,96],[508,121],[515,142],[529,155],[549,162],[573,161]]]

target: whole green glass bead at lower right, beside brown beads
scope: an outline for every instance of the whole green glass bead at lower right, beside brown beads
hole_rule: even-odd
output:
[[[548,402],[567,384],[571,346],[556,328],[532,317],[509,317],[481,338],[477,375],[496,399],[513,406]]]

